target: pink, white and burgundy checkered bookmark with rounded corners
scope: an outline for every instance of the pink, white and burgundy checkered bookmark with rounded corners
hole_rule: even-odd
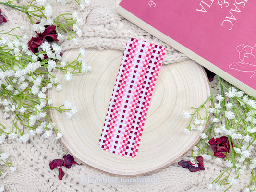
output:
[[[128,41],[100,136],[100,148],[127,157],[137,155],[164,56],[162,46],[135,38]]]

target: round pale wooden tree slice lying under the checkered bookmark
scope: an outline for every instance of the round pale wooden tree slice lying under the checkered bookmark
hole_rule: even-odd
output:
[[[69,100],[79,111],[71,119],[51,111],[50,117],[63,133],[61,143],[80,162],[98,170],[122,176],[151,173],[184,156],[199,140],[200,132],[184,134],[189,119],[184,110],[200,106],[209,96],[210,87],[204,70],[192,60],[163,65],[149,106],[138,155],[119,156],[99,148],[98,142],[110,102],[122,51],[86,50],[86,62],[92,72],[78,74],[72,81],[60,77],[62,91],[49,91],[55,106]],[[77,51],[64,54],[76,58]]]

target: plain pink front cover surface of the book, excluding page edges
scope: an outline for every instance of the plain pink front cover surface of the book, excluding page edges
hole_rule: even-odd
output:
[[[221,23],[230,9],[235,9],[235,0],[229,0],[227,8],[221,8],[215,0],[210,8],[204,6],[207,12],[196,11],[201,9],[201,0],[153,0],[154,8],[150,8],[149,1],[122,0],[120,6],[256,90],[256,77],[250,78],[253,72],[229,69],[233,62],[241,62],[237,46],[256,44],[256,1],[249,0],[244,6],[244,0],[236,0],[241,12],[232,12],[236,18],[232,30],[231,25]]]

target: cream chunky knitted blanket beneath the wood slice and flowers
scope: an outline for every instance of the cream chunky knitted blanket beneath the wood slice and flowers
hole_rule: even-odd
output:
[[[163,45],[167,49],[165,64],[188,60],[184,54],[118,15],[116,7],[119,2],[120,0],[91,0],[91,4],[85,11],[77,10],[84,20],[81,26],[83,35],[78,38],[79,44],[77,45],[65,39],[60,41],[59,45],[62,50],[93,47],[123,51],[127,40],[135,37]],[[8,30],[24,25],[29,36],[35,35],[30,32],[31,24],[23,13],[5,6],[0,8],[7,20],[12,21],[2,24],[1,27]],[[54,14],[65,13],[66,10],[68,12],[76,10],[74,2],[66,6],[56,3]],[[22,32],[16,31],[16,33]],[[212,88],[216,87],[216,84],[215,79],[211,82]],[[2,112],[0,117],[2,117]],[[0,122],[7,126],[11,123],[10,120],[1,118]],[[2,171],[7,174],[0,179],[0,187],[5,186],[5,192],[213,192],[207,189],[207,184],[226,168],[214,160],[209,160],[205,161],[205,171],[191,173],[175,163],[145,176],[146,182],[137,182],[136,180],[141,178],[129,180],[129,178],[110,176],[85,165],[74,165],[70,169],[63,168],[65,175],[62,180],[59,180],[58,170],[50,170],[49,162],[62,158],[67,151],[59,140],[55,140],[55,137],[43,139],[36,135],[26,143],[6,139],[0,144],[0,151],[8,152],[10,154],[8,162],[12,162],[16,167],[14,173],[5,170],[6,166],[2,168]],[[186,160],[188,157],[189,154],[183,159]],[[244,171],[244,174],[240,175],[239,184],[233,186],[231,191],[241,192],[245,189],[250,176],[250,172]]]

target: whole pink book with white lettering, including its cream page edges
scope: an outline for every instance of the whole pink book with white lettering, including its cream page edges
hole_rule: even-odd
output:
[[[122,0],[118,13],[256,98],[256,1]]]

